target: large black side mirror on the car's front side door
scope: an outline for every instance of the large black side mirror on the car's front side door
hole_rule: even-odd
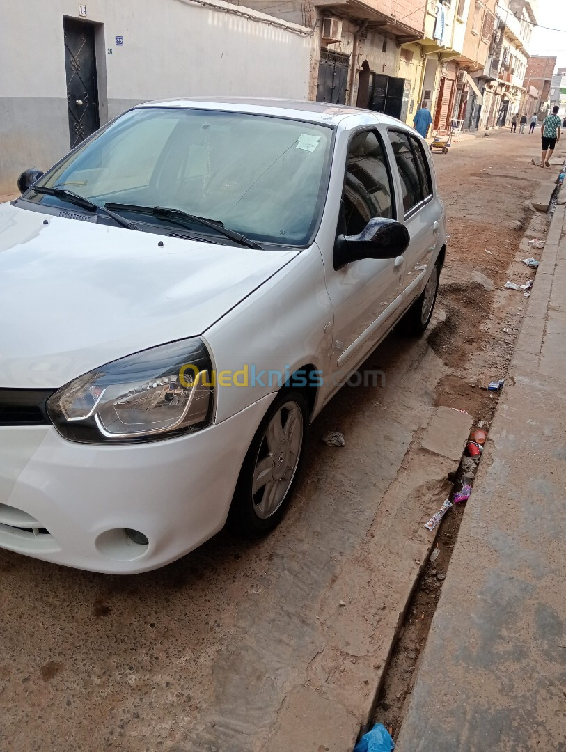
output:
[[[395,259],[407,250],[409,243],[409,231],[403,224],[373,217],[359,235],[338,235],[334,268],[360,259]]]

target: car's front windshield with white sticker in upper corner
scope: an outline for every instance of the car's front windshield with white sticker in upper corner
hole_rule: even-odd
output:
[[[38,186],[64,187],[114,211],[174,208],[257,241],[306,245],[322,211],[331,137],[326,126],[280,117],[139,108],[68,155]],[[63,200],[26,198],[57,206]],[[147,221],[158,220],[148,213]]]

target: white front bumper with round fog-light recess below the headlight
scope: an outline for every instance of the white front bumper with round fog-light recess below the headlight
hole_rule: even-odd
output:
[[[192,435],[74,444],[53,426],[0,428],[0,547],[112,574],[178,559],[224,526],[274,395]],[[125,529],[147,537],[132,541]]]

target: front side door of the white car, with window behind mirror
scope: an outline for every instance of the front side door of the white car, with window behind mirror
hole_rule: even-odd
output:
[[[334,238],[358,235],[372,217],[394,219],[396,213],[391,165],[377,128],[353,132],[345,167]],[[325,262],[326,286],[334,308],[333,386],[356,369],[387,329],[403,301],[403,275],[404,256],[353,260],[341,268]]]

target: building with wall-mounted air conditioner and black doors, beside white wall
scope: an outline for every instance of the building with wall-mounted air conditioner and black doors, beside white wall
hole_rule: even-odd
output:
[[[422,0],[235,0],[316,29],[309,99],[410,122],[421,85]]]

